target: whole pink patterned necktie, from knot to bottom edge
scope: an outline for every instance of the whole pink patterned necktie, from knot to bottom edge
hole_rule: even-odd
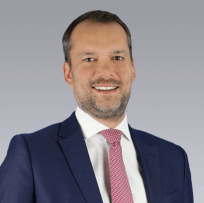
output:
[[[122,132],[107,129],[100,132],[111,144],[109,151],[112,203],[133,203],[132,192],[128,182],[120,144]]]

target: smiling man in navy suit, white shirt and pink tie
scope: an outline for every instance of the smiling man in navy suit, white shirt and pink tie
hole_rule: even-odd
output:
[[[127,26],[108,12],[85,13],[65,31],[63,48],[76,112],[13,137],[0,168],[0,202],[192,203],[184,150],[127,123],[135,79]]]

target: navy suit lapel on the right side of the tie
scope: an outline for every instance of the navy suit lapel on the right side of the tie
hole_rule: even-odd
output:
[[[161,171],[159,150],[148,144],[142,137],[142,132],[134,130],[129,126],[130,134],[135,145],[138,162],[142,169],[148,203],[161,203]]]

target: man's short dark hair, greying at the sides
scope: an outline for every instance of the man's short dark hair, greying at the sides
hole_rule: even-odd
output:
[[[67,28],[67,30],[65,31],[65,33],[63,35],[62,44],[63,44],[65,61],[68,62],[70,68],[71,68],[71,58],[70,58],[71,40],[70,40],[70,36],[71,36],[74,28],[84,20],[90,20],[94,23],[104,23],[104,24],[111,23],[111,22],[119,23],[126,32],[128,47],[129,47],[129,51],[130,51],[130,58],[132,61],[132,40],[131,40],[130,30],[127,27],[127,25],[116,14],[112,14],[112,13],[109,13],[107,11],[96,10],[96,11],[89,11],[87,13],[84,13],[81,16],[79,16],[77,19],[75,19],[69,25],[69,27]]]

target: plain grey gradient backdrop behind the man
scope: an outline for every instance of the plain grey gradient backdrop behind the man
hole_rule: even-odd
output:
[[[61,38],[90,10],[118,14],[132,33],[136,80],[132,127],[181,145],[195,202],[204,189],[204,3],[202,1],[1,1],[0,164],[10,139],[66,119],[76,108],[65,83]]]

